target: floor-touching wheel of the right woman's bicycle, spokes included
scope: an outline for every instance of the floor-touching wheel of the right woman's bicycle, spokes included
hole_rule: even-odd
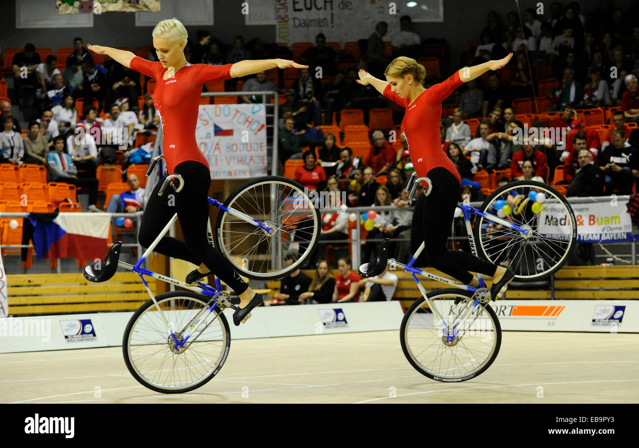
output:
[[[502,328],[495,311],[487,305],[477,305],[463,325],[450,325],[472,305],[472,293],[455,288],[427,294],[445,322],[436,318],[424,297],[406,310],[401,322],[399,339],[408,362],[424,376],[443,382],[470,380],[493,364],[502,344]],[[456,298],[461,299],[458,305]],[[448,326],[448,327],[447,327]],[[444,328],[456,332],[454,342],[446,343]]]

